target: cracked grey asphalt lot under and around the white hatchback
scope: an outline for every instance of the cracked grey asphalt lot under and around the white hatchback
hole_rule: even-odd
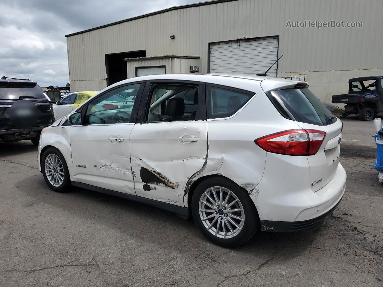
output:
[[[0,145],[0,286],[383,286],[372,122],[344,119],[339,207],[316,227],[208,242],[194,222],[84,189],[52,192],[29,141]]]

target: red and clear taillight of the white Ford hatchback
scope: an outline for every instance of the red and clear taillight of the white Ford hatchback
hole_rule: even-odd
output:
[[[285,130],[267,135],[254,142],[267,152],[282,155],[315,155],[326,133],[321,130]]]

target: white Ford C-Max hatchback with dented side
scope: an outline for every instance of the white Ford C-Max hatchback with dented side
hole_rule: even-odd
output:
[[[99,104],[124,91],[133,105]],[[341,130],[304,82],[145,76],[45,128],[39,168],[54,191],[77,186],[192,215],[209,240],[233,247],[258,230],[312,227],[336,209]]]

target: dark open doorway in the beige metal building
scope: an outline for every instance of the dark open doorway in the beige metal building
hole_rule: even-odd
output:
[[[128,78],[128,69],[124,59],[145,57],[146,51],[133,51],[115,54],[105,54],[105,66],[108,78],[106,85],[110,86]]]

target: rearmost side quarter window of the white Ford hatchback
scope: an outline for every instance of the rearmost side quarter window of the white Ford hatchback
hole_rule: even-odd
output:
[[[215,86],[207,87],[208,119],[229,117],[235,114],[254,94]]]

